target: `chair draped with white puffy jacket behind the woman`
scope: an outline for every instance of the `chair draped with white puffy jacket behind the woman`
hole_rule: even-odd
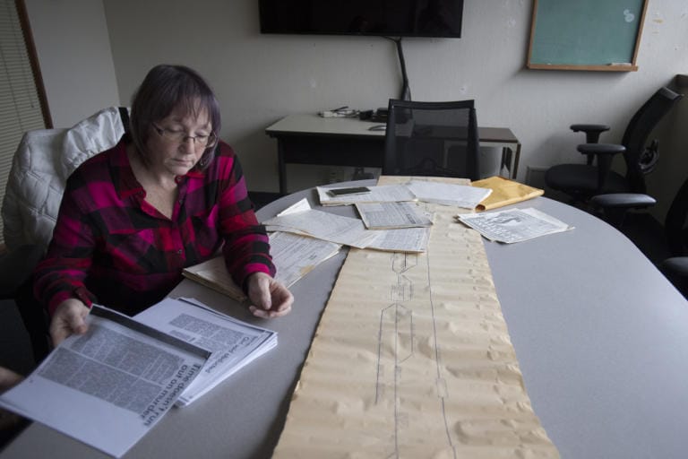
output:
[[[17,304],[37,363],[49,340],[30,274],[53,237],[67,178],[84,160],[115,146],[128,124],[127,108],[105,108],[68,129],[30,131],[14,153],[2,207],[7,251],[0,256],[0,299]]]

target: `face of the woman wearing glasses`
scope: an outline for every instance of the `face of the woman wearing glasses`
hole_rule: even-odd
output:
[[[149,167],[162,174],[184,176],[201,160],[211,140],[212,126],[208,110],[198,110],[198,116],[185,114],[176,108],[168,117],[150,126],[152,131],[146,147]]]

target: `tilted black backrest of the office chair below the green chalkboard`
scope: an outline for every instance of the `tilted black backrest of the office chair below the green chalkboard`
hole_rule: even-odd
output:
[[[649,134],[675,103],[683,98],[668,88],[660,88],[635,112],[626,127],[621,143],[626,147],[626,179],[635,193],[645,193],[645,178],[658,161],[658,143],[648,144]]]

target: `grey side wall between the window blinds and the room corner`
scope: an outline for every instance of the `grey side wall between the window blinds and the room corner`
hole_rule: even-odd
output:
[[[119,103],[103,4],[24,0],[55,127]]]

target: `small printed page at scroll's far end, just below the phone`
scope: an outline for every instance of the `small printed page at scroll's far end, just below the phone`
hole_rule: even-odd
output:
[[[433,224],[418,203],[357,203],[356,209],[368,230],[428,227]]]

